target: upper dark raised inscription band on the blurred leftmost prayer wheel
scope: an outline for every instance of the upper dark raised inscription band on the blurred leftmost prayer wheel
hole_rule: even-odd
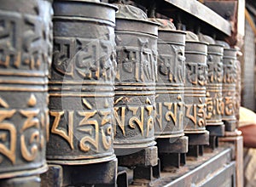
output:
[[[39,4],[34,6],[39,11],[35,15],[0,10],[1,69],[41,71],[38,72],[41,76],[48,71],[45,63],[51,61],[52,23],[50,20],[45,23],[41,16],[44,14],[45,20],[50,19],[50,14],[46,15],[49,7],[43,6],[46,8],[43,13],[44,9],[39,8]]]

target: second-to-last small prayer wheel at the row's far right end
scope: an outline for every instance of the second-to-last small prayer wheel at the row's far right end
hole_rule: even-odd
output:
[[[209,44],[207,47],[207,126],[221,126],[222,82],[224,46]]]

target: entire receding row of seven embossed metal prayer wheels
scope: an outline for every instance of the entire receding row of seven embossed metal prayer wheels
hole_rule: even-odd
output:
[[[1,0],[0,14],[0,183],[39,185],[47,162],[64,184],[112,184],[118,163],[236,129],[235,49],[121,3]]]

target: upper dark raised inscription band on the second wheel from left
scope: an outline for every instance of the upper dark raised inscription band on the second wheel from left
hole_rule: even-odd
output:
[[[113,81],[113,44],[100,39],[54,38],[52,78]]]

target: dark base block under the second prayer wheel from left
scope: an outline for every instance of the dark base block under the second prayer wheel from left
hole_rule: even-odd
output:
[[[52,182],[56,185],[51,186],[115,186],[117,170],[117,159],[86,165],[51,165],[43,177],[48,181],[43,181],[43,184]]]

